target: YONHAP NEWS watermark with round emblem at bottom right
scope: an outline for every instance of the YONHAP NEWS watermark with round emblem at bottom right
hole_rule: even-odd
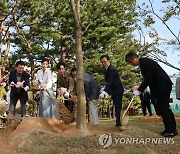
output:
[[[175,138],[169,137],[112,137],[112,134],[102,134],[99,136],[99,144],[103,148],[115,144],[174,144]]]

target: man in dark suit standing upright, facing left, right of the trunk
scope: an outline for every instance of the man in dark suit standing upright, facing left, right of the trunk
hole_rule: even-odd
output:
[[[120,127],[120,130],[124,130],[124,128],[121,126],[120,121],[120,113],[122,109],[122,95],[124,92],[124,88],[122,86],[118,71],[116,70],[116,68],[114,68],[114,66],[110,64],[109,56],[101,56],[100,61],[105,68],[105,80],[107,83],[104,91],[100,94],[100,97],[102,97],[104,94],[111,95],[113,104],[115,106],[116,126]]]

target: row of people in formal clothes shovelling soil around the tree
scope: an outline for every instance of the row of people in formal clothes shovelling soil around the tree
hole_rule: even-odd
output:
[[[157,62],[149,58],[139,58],[134,52],[128,53],[125,60],[133,66],[140,67],[143,81],[140,86],[134,89],[133,94],[135,96],[140,96],[144,115],[146,115],[146,107],[150,115],[152,115],[149,106],[147,106],[147,104],[145,105],[145,99],[151,98],[156,113],[162,116],[165,126],[165,130],[161,135],[165,137],[176,136],[178,134],[176,121],[173,112],[169,108],[169,98],[172,89],[172,82],[169,76]],[[120,117],[124,88],[119,73],[110,63],[108,55],[101,56],[100,62],[104,68],[104,77],[106,81],[104,89],[101,88],[90,74],[84,73],[85,96],[89,104],[90,114],[92,115],[92,122],[94,125],[99,124],[98,99],[111,96],[115,106],[115,126],[119,127],[120,130],[124,130],[125,128],[121,125]],[[76,67],[73,67],[69,73],[66,70],[65,63],[59,62],[57,64],[57,91],[56,96],[54,96],[52,72],[48,68],[49,60],[44,58],[41,64],[42,68],[38,70],[36,75],[36,84],[40,88],[38,116],[56,118],[56,103],[52,99],[52,96],[59,97],[62,95],[65,98],[65,106],[67,109],[75,114],[76,103],[70,98],[77,96]],[[10,72],[9,76],[9,85],[11,87],[9,112],[15,115],[16,104],[17,101],[20,100],[21,117],[26,116],[26,102],[28,100],[28,90],[30,87],[30,75],[24,71],[24,66],[25,64],[23,61],[18,61],[15,69]],[[150,88],[151,95],[146,92],[147,87]],[[148,103],[150,104],[150,102]]]

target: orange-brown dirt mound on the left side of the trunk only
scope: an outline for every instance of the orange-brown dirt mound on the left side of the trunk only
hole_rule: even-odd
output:
[[[0,153],[16,153],[16,149],[28,142],[34,132],[62,133],[71,127],[75,124],[65,125],[63,121],[53,118],[15,119],[0,132]]]

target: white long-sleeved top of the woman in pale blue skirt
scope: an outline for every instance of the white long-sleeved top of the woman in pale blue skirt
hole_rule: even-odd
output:
[[[45,72],[43,70],[38,70],[37,76],[36,76],[36,83],[40,85],[40,82],[43,82],[46,84],[46,88],[52,88],[52,81],[53,81],[53,76],[52,72],[49,69],[46,69]]]

